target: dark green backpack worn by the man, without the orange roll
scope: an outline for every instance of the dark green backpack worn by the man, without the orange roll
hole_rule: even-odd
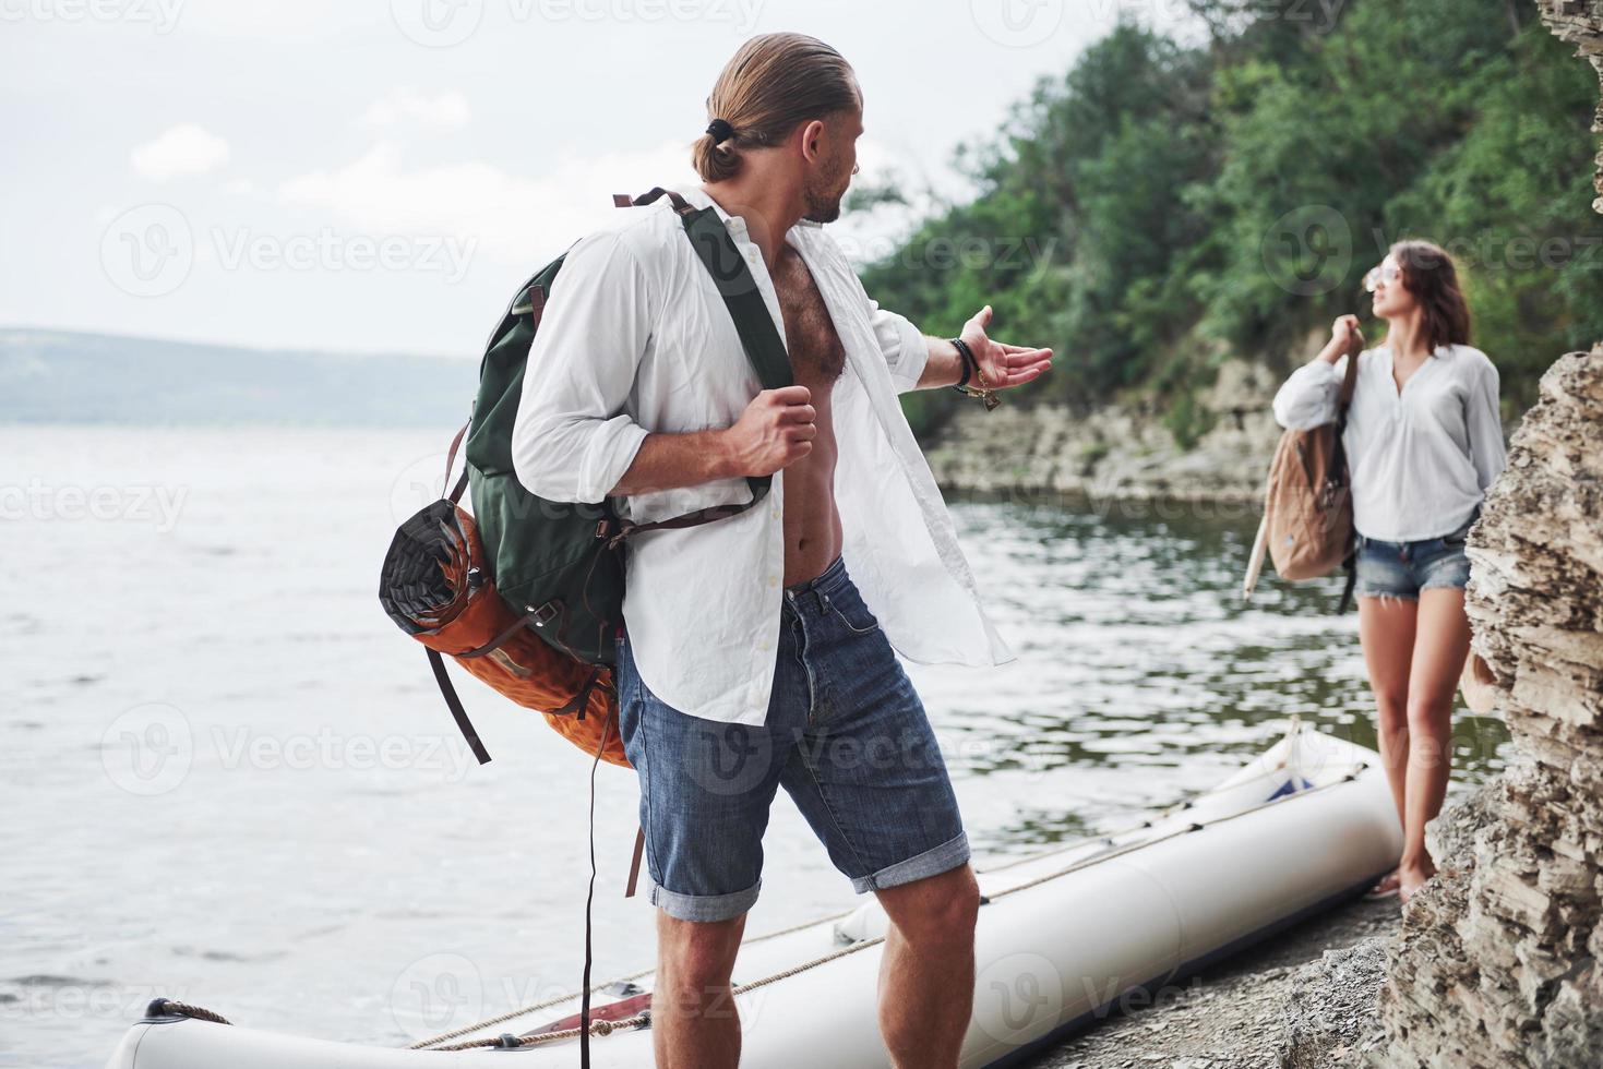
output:
[[[792,385],[784,341],[717,208],[696,208],[662,188],[641,197],[617,194],[612,204],[620,208],[648,205],[662,196],[672,202],[686,239],[718,284],[763,389]],[[742,513],[768,494],[771,476],[747,476],[752,500],[744,505],[701,508],[649,524],[624,519],[611,500],[595,505],[547,502],[524,489],[513,471],[511,430],[523,396],[529,346],[540,329],[540,316],[564,256],[540,268],[518,290],[491,335],[479,365],[463,478],[473,487],[473,516],[500,596],[524,625],[532,625],[559,652],[587,665],[612,665],[612,638],[624,619],[624,559],[619,548],[625,540],[643,530],[694,527]]]

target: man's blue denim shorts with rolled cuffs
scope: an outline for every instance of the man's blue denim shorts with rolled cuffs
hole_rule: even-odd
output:
[[[651,901],[728,920],[757,901],[779,787],[861,894],[968,861],[968,837],[923,704],[837,558],[785,588],[763,726],[670,708],[617,639],[619,728],[640,774]]]

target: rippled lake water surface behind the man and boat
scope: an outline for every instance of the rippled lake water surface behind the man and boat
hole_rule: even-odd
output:
[[[447,434],[0,428],[0,1064],[99,1066],[155,995],[402,1045],[579,986],[588,761],[377,601]],[[909,665],[981,865],[1201,790],[1292,713],[1374,744],[1340,580],[1239,601],[1255,518],[955,502],[1020,660]],[[1502,726],[1457,715],[1456,789]],[[644,968],[633,774],[598,787],[596,976]],[[854,902],[781,793],[749,931]]]

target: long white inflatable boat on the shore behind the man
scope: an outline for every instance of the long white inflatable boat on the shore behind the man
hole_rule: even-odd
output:
[[[1133,827],[979,872],[962,1066],[1008,1066],[1149,1005],[1276,931],[1364,893],[1403,835],[1372,750],[1292,721],[1236,774]],[[742,1064],[890,1064],[875,1015],[886,917],[854,910],[749,936],[734,965]],[[107,1069],[449,1069],[579,1064],[579,994],[407,1048],[303,1039],[157,998]],[[592,987],[590,1059],[651,1066],[651,973]],[[503,1064],[503,1063],[495,1063]]]

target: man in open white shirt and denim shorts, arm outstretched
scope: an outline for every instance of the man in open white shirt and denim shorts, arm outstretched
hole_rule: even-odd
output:
[[[729,976],[782,785],[891,922],[880,1031],[899,1066],[955,1066],[978,886],[923,705],[896,659],[997,665],[986,617],[896,394],[1034,380],[1050,349],[923,337],[864,293],[822,229],[856,173],[862,95],[811,37],[749,40],[694,146],[782,332],[793,383],[763,389],[726,293],[668,200],[617,212],[566,255],[529,349],[511,455],[548,502],[619,498],[633,524],[753,500],[628,542],[619,731],[640,773],[659,965],[657,1064],[736,1066]],[[846,561],[851,561],[851,572]]]

